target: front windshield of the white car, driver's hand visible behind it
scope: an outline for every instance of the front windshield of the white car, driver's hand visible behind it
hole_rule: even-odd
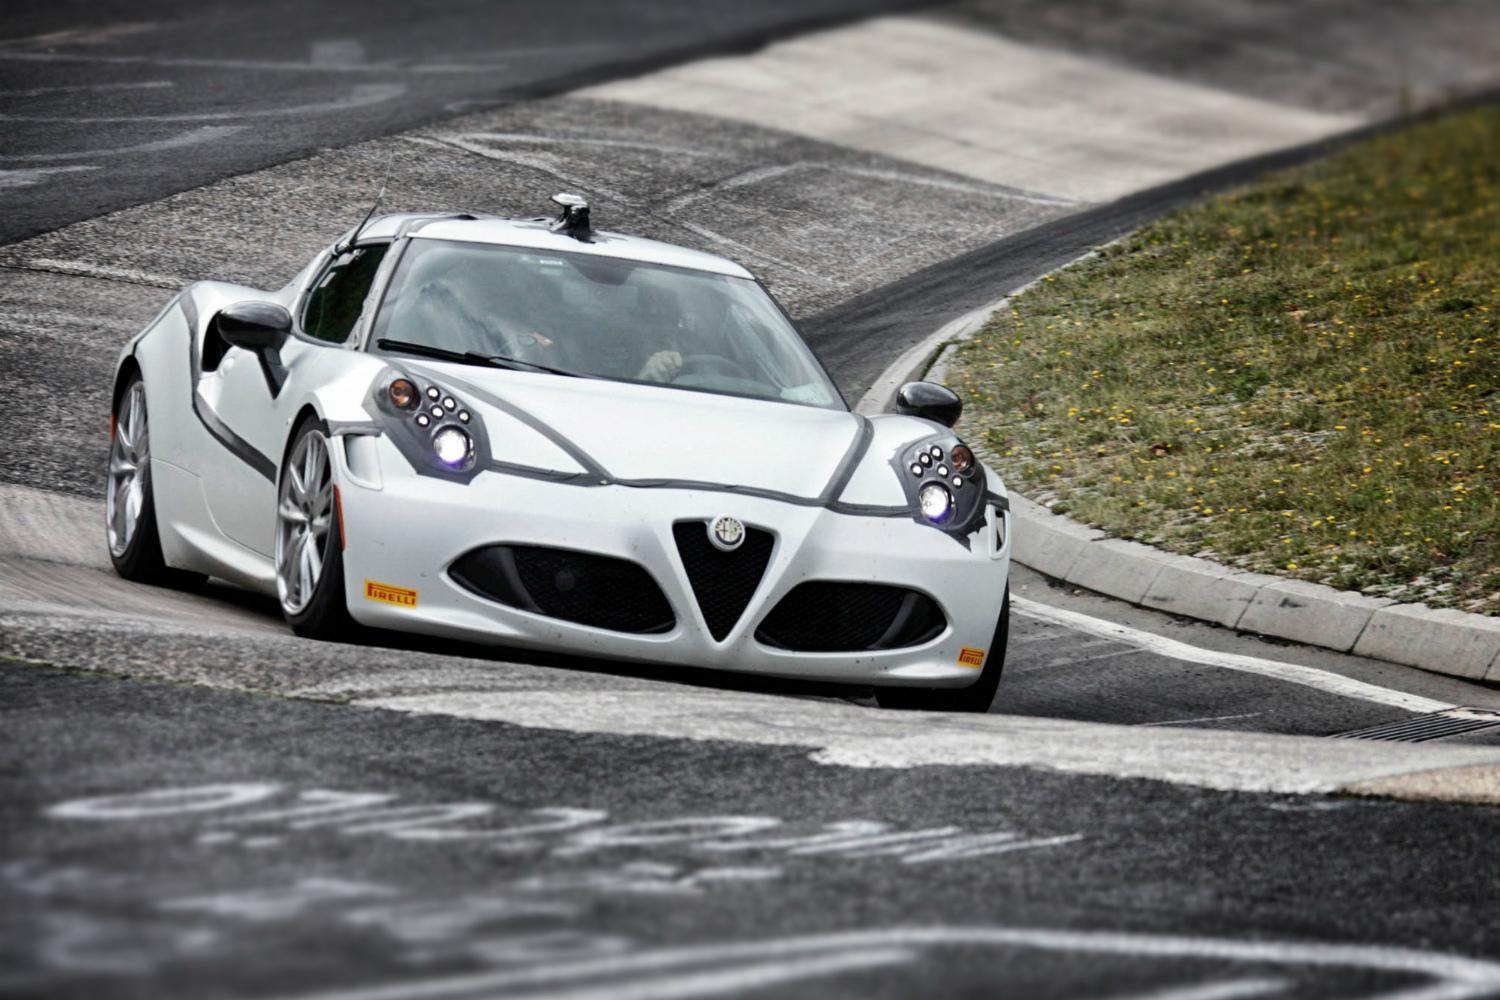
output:
[[[843,409],[756,282],[592,253],[416,238],[374,340],[387,351]]]

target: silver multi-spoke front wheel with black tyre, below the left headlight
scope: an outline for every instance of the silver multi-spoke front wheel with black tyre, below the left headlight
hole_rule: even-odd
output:
[[[357,625],[344,594],[344,535],[328,459],[328,426],[303,421],[276,487],[276,597],[306,639],[351,642]]]

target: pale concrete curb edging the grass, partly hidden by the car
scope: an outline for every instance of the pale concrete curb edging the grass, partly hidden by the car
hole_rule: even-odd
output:
[[[855,409],[884,412],[903,382],[924,376],[940,381],[952,348],[978,333],[990,316],[1029,286],[946,324],[906,351],[874,381]],[[1014,492],[1011,519],[1016,561],[1066,583],[1238,631],[1470,681],[1500,682],[1500,618],[1398,604],[1173,555],[1110,538]]]

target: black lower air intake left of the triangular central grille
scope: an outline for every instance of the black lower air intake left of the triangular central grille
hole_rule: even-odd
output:
[[[450,568],[480,597],[548,618],[620,633],[664,633],[672,606],[646,570],[627,559],[540,546],[484,546]]]

